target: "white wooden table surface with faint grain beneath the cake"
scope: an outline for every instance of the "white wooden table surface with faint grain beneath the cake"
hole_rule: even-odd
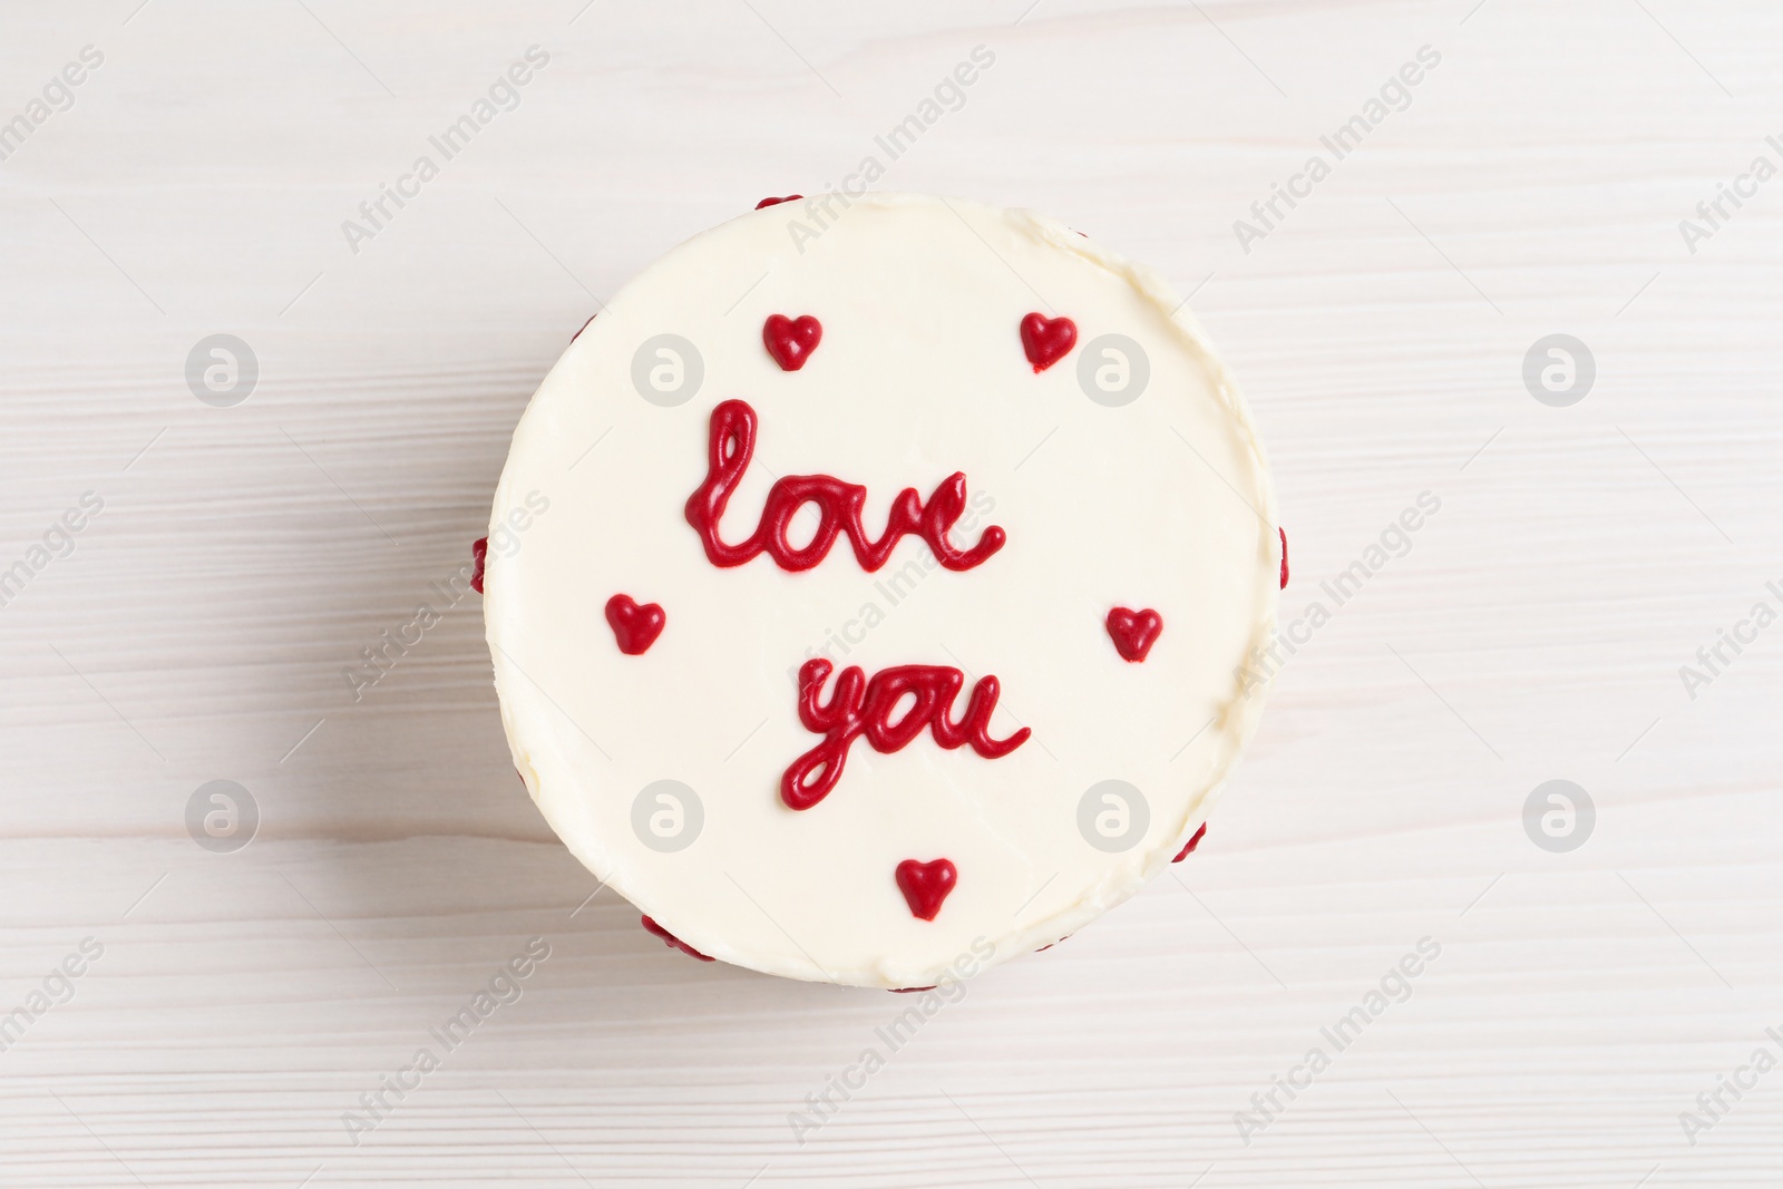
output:
[[[349,246],[535,45],[517,107]],[[510,770],[474,595],[357,701],[344,670],[464,563],[597,299],[838,184],[979,45],[881,185],[1048,210],[1193,291],[1277,467],[1284,611],[1334,615],[1193,861],[843,1102],[908,1004],[590,900]],[[1783,1071],[1680,1114],[1783,1057],[1783,627],[1694,699],[1680,667],[1783,608],[1783,180],[1696,212],[1783,166],[1779,66],[1758,0],[5,4],[0,1184],[1778,1184]],[[226,408],[185,378],[216,333],[259,362]],[[1571,406],[1523,381],[1553,333],[1596,362]],[[1567,852],[1523,825],[1549,779],[1596,806]],[[189,836],[209,781],[251,793],[246,849]],[[349,1136],[530,938],[524,995]]]

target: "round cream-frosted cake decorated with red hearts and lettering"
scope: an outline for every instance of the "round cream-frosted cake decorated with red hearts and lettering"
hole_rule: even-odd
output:
[[[481,585],[514,765],[647,929],[911,989],[1193,849],[1284,553],[1245,401],[1154,273],[1027,210],[829,194],[583,328]]]

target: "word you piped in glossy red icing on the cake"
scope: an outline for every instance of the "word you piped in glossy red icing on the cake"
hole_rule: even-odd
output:
[[[1022,727],[1006,740],[990,736],[991,713],[997,709],[1000,686],[997,677],[979,677],[966,701],[966,713],[954,720],[952,708],[966,676],[947,665],[900,665],[884,668],[867,681],[858,665],[849,665],[836,677],[829,704],[818,702],[818,693],[829,679],[833,665],[824,658],[806,661],[799,668],[799,722],[806,731],[824,736],[824,742],[799,756],[781,777],[781,800],[790,809],[809,809],[836,788],[842,765],[856,738],[877,752],[902,750],[922,734],[924,727],[934,742],[954,750],[972,743],[972,750],[986,759],[1007,756],[1032,734]],[[893,718],[899,701],[913,693],[916,704],[902,718]]]

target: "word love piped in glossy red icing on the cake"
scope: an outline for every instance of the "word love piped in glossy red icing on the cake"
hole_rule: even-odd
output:
[[[916,496],[915,487],[899,492],[879,540],[867,537],[867,528],[861,524],[865,487],[827,474],[788,474],[768,490],[756,531],[747,540],[727,545],[719,535],[719,521],[754,451],[756,410],[744,401],[724,401],[713,408],[706,481],[686,499],[686,522],[699,533],[706,558],[713,565],[742,565],[758,553],[767,553],[783,570],[808,570],[829,554],[838,533],[847,535],[865,570],[884,565],[897,542],[908,535],[929,542],[936,560],[950,570],[970,570],[1004,545],[1006,535],[995,524],[966,551],[956,549],[947,538],[954,521],[966,508],[966,476],[959,471],[941,480],[927,504]],[[817,504],[820,513],[817,535],[802,549],[793,549],[786,540],[786,526],[804,504]]]

